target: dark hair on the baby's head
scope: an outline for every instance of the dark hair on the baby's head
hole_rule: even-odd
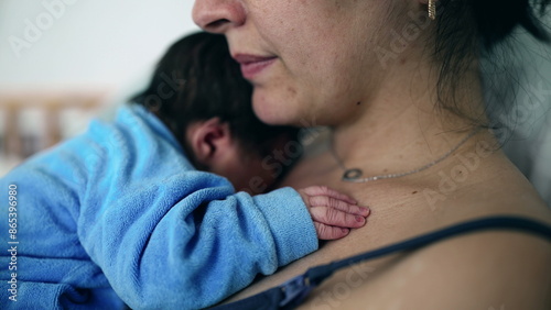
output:
[[[187,126],[215,117],[229,124],[233,137],[247,152],[262,157],[282,136],[296,140],[295,128],[262,123],[255,115],[251,96],[252,86],[230,57],[225,36],[197,32],[169,48],[148,88],[131,101],[153,112],[186,151]]]

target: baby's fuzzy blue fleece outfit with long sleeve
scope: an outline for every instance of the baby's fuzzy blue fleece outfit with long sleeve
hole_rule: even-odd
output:
[[[317,248],[296,191],[236,193],[141,107],[13,169],[0,207],[0,308],[204,308]]]

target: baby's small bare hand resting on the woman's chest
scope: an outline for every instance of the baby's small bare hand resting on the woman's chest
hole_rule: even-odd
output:
[[[350,230],[365,225],[369,209],[357,206],[348,196],[325,186],[311,186],[298,190],[314,221],[317,239],[335,240]]]

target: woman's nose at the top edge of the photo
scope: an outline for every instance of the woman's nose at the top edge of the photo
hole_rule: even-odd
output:
[[[245,23],[246,13],[239,0],[195,0],[193,21],[208,32],[225,33]]]

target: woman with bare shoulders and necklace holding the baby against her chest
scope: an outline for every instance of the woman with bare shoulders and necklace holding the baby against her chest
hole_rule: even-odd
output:
[[[517,25],[548,40],[531,4],[429,2],[196,0],[195,22],[227,36],[255,86],[261,120],[332,128],[325,148],[307,154],[283,185],[322,181],[372,210],[369,225],[235,299],[307,267],[472,219],[551,223],[550,210],[485,130],[493,122],[478,65],[478,51],[493,51]],[[466,234],[344,269],[304,307],[549,309],[549,262],[544,239]]]

